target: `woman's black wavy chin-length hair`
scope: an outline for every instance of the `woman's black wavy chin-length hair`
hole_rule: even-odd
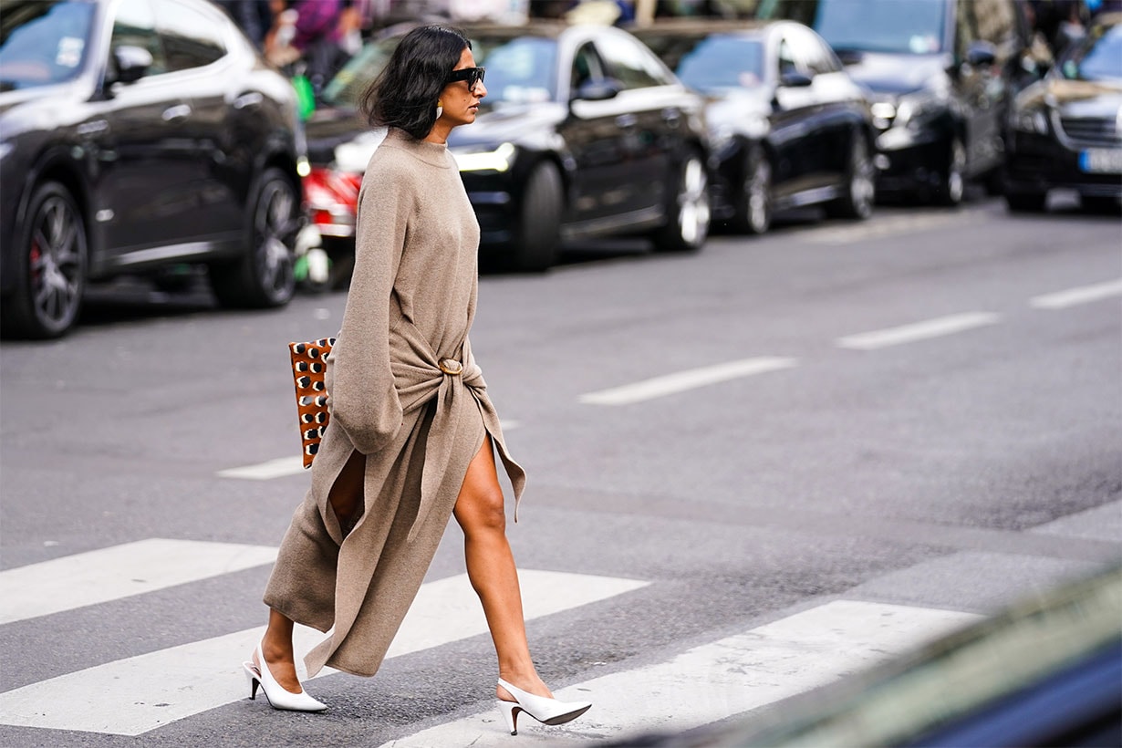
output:
[[[471,41],[458,28],[421,26],[398,43],[360,100],[375,127],[396,127],[422,139],[436,122],[436,101]]]

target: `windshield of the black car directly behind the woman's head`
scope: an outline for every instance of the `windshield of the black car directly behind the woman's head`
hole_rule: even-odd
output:
[[[399,37],[368,44],[332,79],[323,99],[356,107],[397,47]],[[485,104],[551,101],[557,95],[557,41],[542,36],[472,36],[476,64],[487,68]]]

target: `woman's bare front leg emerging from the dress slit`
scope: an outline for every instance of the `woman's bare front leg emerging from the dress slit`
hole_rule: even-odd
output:
[[[518,570],[506,539],[503,489],[495,472],[490,436],[484,438],[482,447],[468,465],[453,514],[463,530],[468,579],[484,606],[498,655],[499,677],[523,691],[552,698],[530,657]],[[502,686],[496,687],[496,695],[513,701]]]

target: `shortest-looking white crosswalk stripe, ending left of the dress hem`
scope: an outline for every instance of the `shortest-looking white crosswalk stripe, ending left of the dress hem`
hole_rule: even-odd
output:
[[[260,545],[149,538],[0,572],[0,624],[48,616],[276,560]]]

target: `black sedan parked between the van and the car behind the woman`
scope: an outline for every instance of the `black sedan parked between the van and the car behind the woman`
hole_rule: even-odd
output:
[[[866,92],[794,21],[674,19],[634,31],[708,99],[714,218],[763,233],[775,212],[873,212],[875,130]]]

